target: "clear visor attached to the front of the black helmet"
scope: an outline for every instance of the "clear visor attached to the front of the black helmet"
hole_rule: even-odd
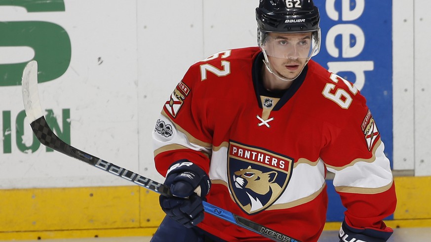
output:
[[[313,32],[274,33],[260,31],[260,47],[268,56],[310,59],[320,50],[320,29]]]

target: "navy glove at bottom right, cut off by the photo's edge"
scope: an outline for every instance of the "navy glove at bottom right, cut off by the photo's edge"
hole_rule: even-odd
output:
[[[340,238],[340,242],[386,242],[389,237],[391,237],[392,233],[391,231],[375,230],[371,228],[353,228],[344,220],[338,238]]]

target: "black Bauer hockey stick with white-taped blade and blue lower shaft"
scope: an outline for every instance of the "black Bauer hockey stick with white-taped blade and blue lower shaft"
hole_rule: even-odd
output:
[[[42,113],[38,91],[38,63],[36,61],[29,62],[24,69],[22,76],[22,96],[27,118],[29,119],[32,130],[40,143],[55,151],[76,158],[80,161],[84,161],[87,164],[108,171],[126,180],[132,181],[139,186],[155,191],[163,196],[172,196],[169,187],[122,168],[118,165],[108,161],[103,161],[95,156],[80,151],[66,144],[58,136],[56,136],[46,123],[45,117]],[[242,228],[253,231],[259,235],[262,235],[263,237],[276,242],[299,242],[296,239],[233,214],[223,208],[217,207],[208,202],[202,203],[205,212],[229,221]]]

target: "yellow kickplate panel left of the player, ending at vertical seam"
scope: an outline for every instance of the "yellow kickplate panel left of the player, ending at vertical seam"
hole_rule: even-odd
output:
[[[0,232],[139,227],[139,188],[0,190]]]

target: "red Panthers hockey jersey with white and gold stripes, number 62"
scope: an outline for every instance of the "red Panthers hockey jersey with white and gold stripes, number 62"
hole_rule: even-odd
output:
[[[157,171],[193,161],[211,179],[209,203],[315,242],[326,220],[328,169],[349,224],[386,229],[393,177],[364,97],[313,60],[285,93],[271,95],[260,88],[262,59],[249,47],[190,67],[153,132]],[[198,226],[229,242],[269,241],[208,214]]]

